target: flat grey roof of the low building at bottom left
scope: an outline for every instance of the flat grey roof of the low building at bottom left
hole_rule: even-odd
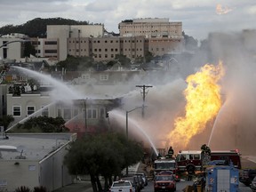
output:
[[[54,150],[66,145],[72,134],[74,133],[8,133],[8,139],[1,134],[0,161],[12,159],[40,161]]]

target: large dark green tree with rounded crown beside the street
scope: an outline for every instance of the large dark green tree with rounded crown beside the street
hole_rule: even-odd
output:
[[[74,141],[64,158],[71,174],[89,174],[93,191],[101,191],[99,176],[105,180],[104,188],[112,184],[112,176],[120,176],[125,167],[138,163],[143,156],[139,142],[127,140],[121,133],[105,132],[85,135]]]

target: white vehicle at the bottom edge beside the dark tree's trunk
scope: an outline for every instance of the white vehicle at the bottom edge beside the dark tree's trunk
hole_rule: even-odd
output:
[[[112,183],[109,192],[135,192],[130,180],[117,180]]]

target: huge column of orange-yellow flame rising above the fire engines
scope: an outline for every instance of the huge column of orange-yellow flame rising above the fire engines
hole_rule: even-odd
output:
[[[205,125],[217,116],[221,107],[220,86],[217,83],[223,75],[224,68],[220,61],[217,66],[206,64],[199,72],[188,76],[188,87],[184,91],[186,113],[175,119],[174,129],[168,135],[171,146],[185,149],[189,140],[203,132]]]

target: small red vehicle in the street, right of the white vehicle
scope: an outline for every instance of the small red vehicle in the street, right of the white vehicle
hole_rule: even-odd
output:
[[[176,191],[176,180],[173,175],[156,175],[154,178],[154,191]]]

